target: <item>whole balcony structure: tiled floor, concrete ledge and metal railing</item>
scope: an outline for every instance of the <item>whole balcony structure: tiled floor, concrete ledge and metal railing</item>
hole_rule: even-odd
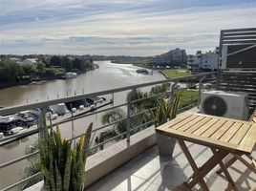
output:
[[[102,96],[107,94],[112,95],[121,91],[130,91],[166,82],[171,82],[171,90],[167,93],[157,96],[173,96],[174,91],[177,90],[177,84],[180,81],[186,81],[189,79],[192,79],[194,83],[197,81],[200,82],[200,88],[199,90],[197,90],[197,93],[201,94],[203,80],[205,80],[206,76],[210,76],[212,74],[216,73],[198,74],[186,78],[181,77],[177,79],[151,82],[148,84],[124,87],[121,89],[104,91],[91,95],[73,96],[46,101],[42,103],[39,102],[31,105],[28,104],[23,106],[4,108],[0,110],[0,115],[8,115],[13,112],[19,112],[32,108],[45,108],[53,104],[65,102],[67,100],[79,100],[88,96]],[[183,98],[193,101],[191,102],[191,104],[186,104],[181,107],[179,110],[180,113],[190,109],[191,107],[195,107],[198,104],[198,100],[195,99],[195,97],[193,96]],[[129,110],[129,104],[133,104],[135,102],[136,101],[128,100],[127,102],[120,105],[114,104],[112,107],[109,107],[107,109],[97,110],[92,114],[87,114],[86,116],[72,117],[69,120],[65,120],[65,122],[71,122],[78,119],[80,120],[84,117],[89,117],[98,113],[106,112],[110,109],[117,107],[127,106],[127,110]],[[194,108],[193,110],[198,111],[196,108]],[[130,117],[136,115],[139,114],[130,114],[130,112],[127,112],[127,117],[123,118],[122,120],[128,121]],[[110,138],[109,140],[101,142],[96,146],[92,146],[92,149],[97,149],[98,152],[96,152],[96,154],[94,154],[93,156],[90,156],[86,163],[86,190],[169,190],[181,184],[181,182],[188,180],[189,176],[191,176],[193,171],[188,161],[182,154],[179,144],[176,144],[173,159],[160,158],[158,146],[156,146],[157,140],[155,129],[152,126],[152,121],[147,122],[148,123],[146,124],[148,125],[148,128],[143,129],[142,131],[139,131],[139,133],[133,135],[131,134],[131,132],[135,129],[140,128],[140,126],[130,126],[123,134],[126,135],[125,139],[115,142],[115,144],[113,144],[112,142],[114,138]],[[115,124],[115,122],[110,125],[113,124]],[[94,132],[107,128],[110,125],[103,125],[102,127],[97,127]],[[38,126],[38,128],[40,129],[40,126]],[[122,137],[123,135],[119,135],[118,137]],[[110,146],[106,146],[104,150],[99,151],[98,148],[101,145],[108,145],[108,143],[110,142],[112,142]],[[193,152],[192,155],[199,166],[203,164],[207,157],[211,156],[211,152],[209,149],[197,144],[189,142],[186,143]],[[37,154],[37,152],[34,152],[31,155]],[[253,155],[256,155],[256,151],[254,151]],[[11,166],[13,163],[17,163],[23,159],[27,159],[30,156],[24,156],[18,159],[8,161],[4,164],[0,164],[0,171],[3,168]],[[227,187],[227,181],[224,180],[224,176],[216,175],[215,170],[207,175],[205,181],[210,187],[210,190],[224,190]],[[248,190],[256,184],[255,174],[253,174],[253,172],[251,172],[250,170],[246,169],[245,165],[242,165],[240,162],[236,162],[235,165],[230,168],[229,172],[236,181],[239,190]],[[15,189],[17,186],[24,185],[24,183],[26,183],[28,180],[32,180],[33,178],[34,177],[20,180],[18,182],[13,182],[9,187],[4,188],[3,190],[17,190]],[[28,188],[27,191],[39,190],[41,189],[42,184],[43,183],[41,181],[33,185],[31,188]]]

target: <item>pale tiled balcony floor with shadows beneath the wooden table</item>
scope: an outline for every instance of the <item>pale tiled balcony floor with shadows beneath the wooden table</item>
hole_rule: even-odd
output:
[[[198,165],[202,164],[211,155],[211,151],[203,146],[189,142],[187,142],[187,145],[193,152],[193,157]],[[256,156],[256,150],[254,156]],[[153,146],[103,179],[96,181],[94,185],[86,190],[171,190],[183,181],[188,180],[192,173],[193,171],[179,144],[176,145],[174,159],[160,159],[158,146]],[[233,164],[229,173],[235,180],[238,190],[250,190],[256,184],[255,174],[245,168],[245,165],[242,165],[241,162]],[[215,171],[206,176],[205,182],[211,191],[225,190],[227,187],[224,176],[217,175]]]

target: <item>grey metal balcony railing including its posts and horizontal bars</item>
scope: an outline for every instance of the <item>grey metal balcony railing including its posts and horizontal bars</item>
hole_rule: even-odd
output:
[[[65,102],[71,102],[71,101],[75,101],[75,100],[81,100],[81,99],[85,99],[85,98],[89,98],[89,97],[94,97],[94,96],[105,96],[105,95],[112,95],[113,96],[114,94],[119,93],[119,92],[134,91],[134,90],[138,90],[139,88],[143,88],[143,87],[147,87],[147,86],[154,86],[154,85],[159,85],[159,84],[164,84],[164,83],[171,82],[171,89],[170,89],[170,91],[168,91],[166,93],[161,93],[161,94],[154,95],[154,96],[147,96],[147,97],[143,97],[143,98],[140,98],[140,99],[137,99],[137,100],[131,100],[128,97],[127,100],[124,101],[124,103],[122,103],[122,104],[115,105],[115,106],[112,105],[112,107],[107,108],[107,109],[96,110],[93,113],[88,113],[88,114],[84,114],[84,115],[78,115],[76,117],[70,117],[70,118],[67,118],[67,119],[64,119],[64,120],[58,122],[58,124],[66,123],[66,122],[77,120],[79,118],[89,117],[89,116],[96,115],[96,114],[99,114],[99,113],[107,112],[107,111],[115,109],[115,108],[126,106],[127,107],[127,116],[126,117],[118,119],[118,120],[116,120],[116,121],[114,121],[112,123],[109,123],[109,124],[97,127],[96,129],[93,130],[93,133],[96,133],[99,130],[102,130],[102,129],[105,129],[105,128],[109,127],[109,126],[112,126],[112,125],[114,125],[117,122],[120,122],[122,120],[126,120],[126,122],[127,122],[126,132],[117,135],[117,137],[109,138],[109,139],[107,139],[107,140],[105,140],[103,142],[100,142],[97,145],[92,146],[90,148],[91,150],[95,150],[98,147],[100,147],[100,146],[102,146],[102,145],[104,145],[104,144],[106,144],[106,143],[108,143],[110,141],[113,141],[113,140],[115,140],[117,138],[124,138],[125,137],[127,139],[127,141],[129,142],[130,141],[130,135],[131,135],[132,132],[134,132],[135,130],[137,130],[137,129],[141,128],[141,127],[145,127],[145,126],[149,126],[149,125],[153,124],[153,120],[149,120],[149,121],[145,121],[143,124],[141,124],[139,126],[132,127],[131,126],[131,122],[130,122],[131,117],[136,117],[136,116],[142,115],[145,112],[148,112],[148,110],[144,110],[144,111],[140,111],[137,114],[132,114],[131,106],[133,104],[135,104],[135,103],[137,103],[139,101],[143,101],[143,100],[145,100],[147,98],[153,98],[153,97],[158,97],[158,96],[170,96],[171,98],[173,98],[174,95],[175,95],[175,91],[177,90],[177,84],[179,82],[181,82],[181,81],[182,82],[188,82],[190,80],[193,80],[195,83],[199,82],[200,85],[199,85],[199,91],[198,91],[197,95],[195,94],[195,96],[181,97],[181,99],[188,99],[189,98],[189,99],[192,100],[191,104],[186,105],[186,106],[180,108],[180,112],[184,111],[184,110],[186,110],[188,108],[191,108],[192,106],[198,105],[198,102],[200,101],[201,91],[202,91],[202,88],[203,88],[203,85],[202,85],[203,84],[203,80],[205,80],[207,76],[211,77],[212,75],[216,75],[216,74],[217,73],[196,74],[196,75],[191,75],[191,76],[186,76],[186,77],[172,78],[172,79],[154,81],[154,82],[149,82],[149,83],[144,83],[144,84],[139,84],[139,85],[134,85],[134,86],[127,86],[127,87],[123,87],[123,88],[117,88],[117,89],[113,89],[113,90],[102,91],[102,92],[97,92],[97,93],[92,93],[92,94],[83,94],[83,95],[77,95],[77,96],[69,96],[69,97],[65,97],[65,98],[57,98],[57,99],[53,99],[53,100],[42,101],[42,102],[37,102],[37,103],[32,103],[32,104],[11,106],[11,107],[7,107],[7,108],[1,108],[0,109],[0,116],[6,116],[6,115],[13,114],[13,113],[21,112],[21,111],[26,111],[26,110],[31,110],[31,109],[34,109],[34,108],[39,108],[42,111],[40,117],[38,118],[38,132],[39,132],[39,135],[40,135],[42,133],[42,129],[43,129],[42,119],[45,116],[44,113],[47,111],[47,108],[49,106],[51,106],[51,105],[56,105],[56,104],[65,103]],[[151,109],[154,110],[154,108],[151,108]],[[56,123],[53,124],[53,126],[54,125],[56,125]],[[82,135],[79,135],[79,136],[76,136],[74,138],[79,138],[81,136]],[[19,162],[19,161],[24,160],[24,159],[29,159],[29,158],[31,158],[34,155],[38,155],[38,153],[39,153],[39,151],[35,151],[35,152],[33,152],[33,153],[29,154],[29,155],[25,155],[25,156],[20,157],[18,159],[13,159],[11,161],[2,163],[2,164],[0,164],[0,171],[1,171],[1,169],[5,168],[5,167],[8,167],[8,166],[11,166],[12,164],[14,164],[16,162]],[[40,173],[32,175],[32,177],[26,178],[24,180],[20,180],[18,182],[15,182],[15,183],[11,184],[10,186],[8,186],[8,187],[6,187],[6,188],[4,188],[2,190],[3,191],[11,190],[14,187],[17,187],[17,186],[25,184],[26,182],[34,179],[37,176],[40,176]]]

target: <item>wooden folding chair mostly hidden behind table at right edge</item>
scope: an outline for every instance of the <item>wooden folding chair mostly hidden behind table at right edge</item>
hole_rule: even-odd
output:
[[[256,123],[256,110],[250,116],[248,121],[250,121],[252,123]],[[245,160],[243,158],[243,156],[245,156],[251,163],[249,163],[247,160]],[[225,168],[230,167],[236,160],[240,160],[242,163],[245,164],[245,166],[247,166],[252,172],[254,172],[256,174],[256,159],[254,159],[251,155],[243,155],[243,156],[233,154],[233,157],[231,159],[228,159],[225,162],[225,164],[224,164]],[[223,172],[223,169],[220,169],[216,173],[221,174],[222,172]]]

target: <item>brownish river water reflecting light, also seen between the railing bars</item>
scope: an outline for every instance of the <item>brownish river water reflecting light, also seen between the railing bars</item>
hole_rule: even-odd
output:
[[[96,62],[99,69],[79,74],[75,79],[51,80],[37,84],[22,85],[7,88],[0,91],[0,106],[33,103],[57,97],[74,96],[75,94],[94,93],[103,90],[125,87],[150,81],[164,79],[162,74],[154,72],[153,75],[137,74],[135,67],[128,64],[113,64],[110,61]],[[127,93],[117,93],[114,96],[115,105],[123,103]],[[95,126],[99,126],[100,116],[87,117],[88,121],[93,121]],[[69,128],[68,128],[69,127]],[[71,124],[61,126],[61,133],[64,138],[71,137]],[[84,121],[75,121],[75,135],[84,132]],[[22,138],[0,147],[0,164],[11,159],[16,159],[24,155],[26,146],[31,145],[37,140],[37,135]],[[26,160],[17,162],[10,167],[0,171],[0,189],[4,188],[17,180],[21,180],[23,171],[27,165]]]

